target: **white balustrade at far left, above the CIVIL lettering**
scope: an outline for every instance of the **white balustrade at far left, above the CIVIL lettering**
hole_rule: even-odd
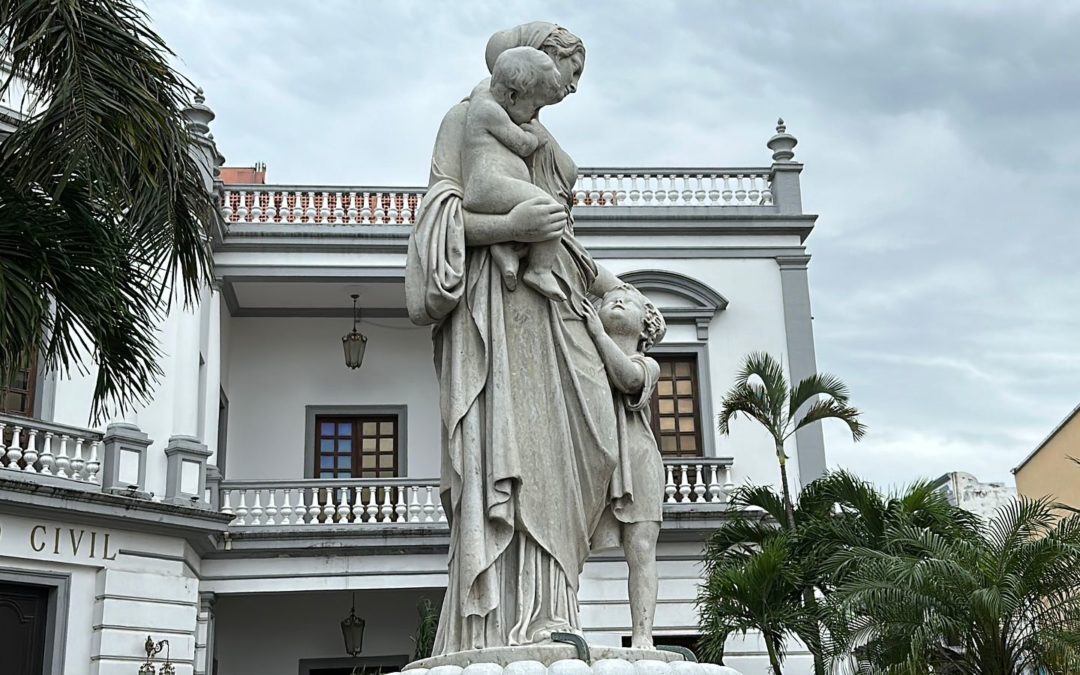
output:
[[[102,455],[97,432],[0,415],[0,476],[56,476],[97,485]]]

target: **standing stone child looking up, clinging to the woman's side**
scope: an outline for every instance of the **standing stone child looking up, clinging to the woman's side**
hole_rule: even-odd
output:
[[[608,292],[599,310],[585,300],[582,313],[611,380],[619,437],[611,508],[593,535],[593,548],[622,544],[630,567],[631,646],[652,649],[664,465],[649,424],[649,401],[660,365],[645,352],[663,339],[666,324],[656,306],[630,284]]]

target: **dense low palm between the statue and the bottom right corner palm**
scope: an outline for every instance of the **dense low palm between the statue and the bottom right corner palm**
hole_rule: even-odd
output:
[[[705,546],[705,583],[698,598],[703,654],[713,659],[723,657],[729,634],[745,631],[746,622],[759,621],[761,624],[754,627],[764,635],[768,630],[765,621],[775,623],[772,617],[780,615],[787,624],[798,626],[798,635],[811,651],[819,672],[824,672],[827,661],[838,656],[833,651],[837,640],[832,636],[847,634],[842,623],[847,618],[838,616],[829,600],[837,585],[851,575],[846,552],[855,548],[905,551],[888,536],[904,526],[971,539],[978,523],[970,512],[949,504],[945,495],[929,482],[883,495],[847,471],[826,474],[799,492],[794,504],[794,530],[784,525],[783,497],[771,487],[739,487],[731,495],[730,505],[729,517],[713,531]],[[760,551],[770,546],[783,553],[783,566],[762,567],[754,562]],[[757,576],[748,573],[751,566]],[[797,592],[770,598],[773,603],[785,603],[783,607],[771,608],[773,615],[754,616],[737,604],[738,598],[724,602],[719,597],[732,579],[743,580],[744,592],[750,580],[757,579],[756,583],[764,584],[760,580],[764,569],[778,575],[770,580],[770,588],[797,586],[794,589]],[[719,581],[714,583],[714,577]],[[759,591],[756,593],[761,595]],[[783,651],[779,657],[782,662]]]

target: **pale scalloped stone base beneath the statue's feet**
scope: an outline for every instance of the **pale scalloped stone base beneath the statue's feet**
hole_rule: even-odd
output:
[[[414,661],[402,675],[739,675],[712,663],[693,663],[659,649],[589,646],[582,660],[575,645],[539,643],[456,651]]]

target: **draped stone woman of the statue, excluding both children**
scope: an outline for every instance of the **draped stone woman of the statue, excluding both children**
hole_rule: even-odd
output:
[[[541,22],[500,31],[488,69],[516,46],[546,53],[566,93],[577,91],[585,50],[576,36]],[[551,199],[502,215],[465,212],[468,106],[450,108],[440,126],[406,268],[410,316],[434,325],[443,418],[449,584],[435,654],[578,629],[578,577],[617,461],[611,389],[581,302],[620,282],[573,237],[577,167],[535,122],[545,143],[528,160],[530,175]],[[555,239],[553,271],[568,299],[524,284],[508,291],[489,246]]]

